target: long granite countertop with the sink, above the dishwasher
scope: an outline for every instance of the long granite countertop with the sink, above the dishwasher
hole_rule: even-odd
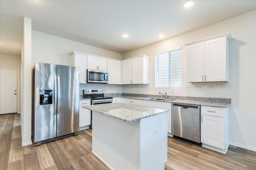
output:
[[[210,107],[228,107],[231,104],[231,99],[229,98],[205,98],[205,97],[186,97],[186,96],[174,96],[174,100],[170,101],[164,100],[164,96],[161,95],[146,95],[146,94],[105,94],[105,96],[113,98],[128,98],[128,99],[137,99],[137,100],[149,100],[156,102],[168,102],[168,103],[179,103],[179,104],[192,104],[200,106],[210,106]],[[153,100],[154,98],[154,100]],[[156,100],[162,99],[162,100]]]

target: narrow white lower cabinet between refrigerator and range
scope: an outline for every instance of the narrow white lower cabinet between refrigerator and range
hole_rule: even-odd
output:
[[[82,106],[90,106],[90,100],[80,100],[79,103],[79,130],[88,129],[91,125],[91,111]]]

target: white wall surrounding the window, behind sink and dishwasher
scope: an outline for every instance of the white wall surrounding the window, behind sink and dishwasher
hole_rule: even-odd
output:
[[[231,32],[229,42],[229,82],[187,83],[186,82],[186,46],[184,44],[214,35]],[[182,87],[154,88],[154,55],[182,46]],[[154,43],[123,54],[123,59],[139,55],[150,56],[150,86],[123,86],[123,93],[158,94],[174,92],[174,96],[201,96],[231,98],[229,119],[230,144],[250,150],[256,150],[256,11],[248,12],[228,20]],[[189,84],[190,88],[184,88]],[[201,85],[207,84],[207,89]],[[220,89],[213,89],[220,84]],[[169,94],[168,94],[169,95]]]

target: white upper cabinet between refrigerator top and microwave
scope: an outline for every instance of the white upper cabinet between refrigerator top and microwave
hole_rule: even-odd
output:
[[[79,67],[79,83],[86,84],[87,77],[87,56],[86,54],[72,51],[71,55],[71,66]]]

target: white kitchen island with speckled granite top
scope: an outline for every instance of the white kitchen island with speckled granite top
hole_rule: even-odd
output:
[[[112,103],[92,110],[92,152],[111,169],[164,169],[166,109]]]

